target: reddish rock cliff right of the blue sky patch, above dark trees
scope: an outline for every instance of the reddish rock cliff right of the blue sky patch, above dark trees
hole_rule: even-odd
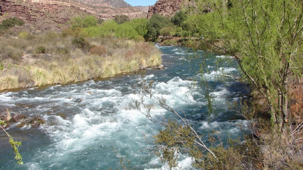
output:
[[[151,15],[160,14],[165,17],[170,17],[178,12],[181,6],[194,4],[192,0],[158,0],[155,5],[150,6],[147,18]]]

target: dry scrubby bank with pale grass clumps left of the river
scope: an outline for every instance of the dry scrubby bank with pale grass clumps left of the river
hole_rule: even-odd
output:
[[[113,77],[161,64],[154,44],[55,32],[1,37],[0,91]]]

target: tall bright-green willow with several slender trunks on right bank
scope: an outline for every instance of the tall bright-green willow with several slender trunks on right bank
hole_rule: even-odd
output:
[[[272,123],[288,122],[289,87],[303,69],[303,1],[198,0],[202,41],[232,55],[266,99]],[[204,13],[208,9],[208,13]]]

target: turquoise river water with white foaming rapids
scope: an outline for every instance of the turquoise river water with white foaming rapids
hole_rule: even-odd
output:
[[[238,76],[235,60],[212,54],[203,66],[208,72],[198,74],[203,63],[202,51],[157,47],[163,53],[165,69],[142,71],[146,81],[155,82],[155,96],[163,96],[175,110],[184,110],[198,132],[205,135],[205,143],[213,130],[223,142],[228,136],[241,136],[238,125],[245,126],[247,122],[229,111],[228,103],[246,97],[250,89],[244,83],[219,81],[212,77],[221,74],[218,70]],[[196,59],[189,60],[191,55]],[[215,60],[220,58],[227,61],[216,67]],[[165,165],[146,150],[151,147],[147,139],[151,139],[161,127],[152,124],[131,104],[132,100],[139,100],[137,83],[141,81],[142,72],[0,93],[1,112],[8,108],[24,116],[45,120],[45,124],[38,127],[18,127],[15,123],[7,129],[15,140],[22,141],[19,152],[24,165],[16,164],[7,137],[0,133],[0,169],[116,169],[120,167],[122,156],[128,156],[131,167],[165,169]],[[194,80],[201,77],[209,78],[208,88],[213,90],[215,114],[210,116],[205,88],[203,85],[193,86]],[[158,106],[152,111],[154,116],[171,116]],[[187,155],[179,157],[180,169],[192,169]]]

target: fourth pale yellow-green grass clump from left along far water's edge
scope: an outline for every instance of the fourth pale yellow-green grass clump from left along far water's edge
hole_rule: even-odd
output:
[[[72,64],[72,66],[69,67],[68,76],[73,82],[85,81],[88,79],[88,74],[77,64]]]

